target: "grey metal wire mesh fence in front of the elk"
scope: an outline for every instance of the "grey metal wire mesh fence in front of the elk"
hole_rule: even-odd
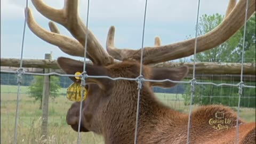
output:
[[[195,31],[195,49],[194,49],[194,68],[193,68],[193,78],[192,79],[189,79],[189,81],[172,81],[170,79],[165,79],[165,80],[162,80],[162,81],[155,81],[155,80],[152,80],[152,79],[145,79],[143,78],[142,76],[142,57],[143,57],[143,39],[144,39],[144,35],[145,35],[145,23],[146,23],[146,17],[147,17],[147,0],[145,1],[145,11],[144,11],[144,18],[143,18],[143,28],[142,28],[142,41],[141,41],[141,67],[140,67],[140,75],[137,77],[137,78],[126,78],[126,77],[116,77],[116,78],[112,78],[112,77],[108,77],[108,76],[90,76],[90,75],[87,75],[86,74],[86,70],[85,70],[85,67],[86,67],[86,63],[85,63],[85,58],[84,58],[84,68],[83,68],[83,73],[79,76],[81,77],[81,84],[84,86],[86,84],[86,78],[108,78],[109,81],[116,81],[116,80],[119,80],[119,79],[123,79],[123,80],[126,80],[126,81],[136,81],[138,83],[138,105],[137,105],[137,117],[136,117],[136,126],[135,126],[135,132],[134,132],[134,143],[137,143],[137,135],[138,135],[138,127],[139,127],[139,123],[138,123],[138,119],[139,119],[139,104],[140,104],[140,90],[141,90],[141,85],[143,82],[173,82],[173,83],[178,83],[179,85],[187,85],[186,87],[188,88],[189,87],[189,92],[186,94],[186,93],[182,93],[182,94],[174,94],[172,95],[172,97],[174,97],[174,99],[169,99],[169,97],[167,98],[167,102],[171,101],[173,102],[174,101],[174,104],[173,105],[181,105],[180,101],[182,101],[183,103],[185,103],[185,101],[187,100],[187,106],[189,107],[187,110],[187,112],[189,113],[189,120],[188,120],[188,131],[187,131],[187,143],[189,143],[189,130],[190,130],[190,117],[191,117],[191,111],[194,107],[194,102],[197,102],[198,105],[202,104],[205,100],[204,98],[209,98],[209,101],[208,101],[208,104],[214,104],[214,103],[218,103],[216,102],[215,98],[220,98],[218,101],[219,103],[222,103],[222,101],[226,101],[226,99],[223,99],[223,98],[228,98],[228,105],[229,106],[233,106],[233,107],[236,107],[236,111],[237,111],[237,119],[239,119],[240,117],[240,111],[241,111],[241,101],[246,103],[246,101],[244,99],[254,99],[255,100],[255,95],[254,97],[251,97],[250,94],[248,95],[245,95],[245,90],[247,89],[255,89],[255,83],[254,85],[251,85],[251,83],[246,83],[243,81],[243,58],[244,58],[244,44],[245,44],[245,31],[246,31],[246,17],[247,17],[247,7],[248,7],[248,1],[246,3],[246,12],[245,12],[245,23],[244,23],[244,35],[243,35],[243,50],[242,50],[242,69],[241,69],[241,81],[239,82],[232,82],[232,83],[214,83],[214,82],[203,82],[203,81],[198,81],[199,79],[196,79],[195,78],[195,74],[196,74],[196,50],[197,50],[197,25],[198,25],[198,17],[199,17],[199,9],[200,9],[200,0],[198,0],[198,7],[197,7],[197,20],[196,20],[196,31]],[[90,1],[88,0],[87,1],[87,20],[86,20],[86,27],[88,28],[88,25],[89,25],[89,11],[90,11]],[[26,3],[26,8],[28,7],[28,2]],[[26,14],[26,17],[27,17],[27,14]],[[20,119],[20,116],[22,116],[22,113],[20,113],[20,97],[22,95],[21,93],[21,89],[22,89],[22,77],[23,75],[39,75],[39,76],[65,76],[65,77],[75,77],[76,75],[62,75],[62,74],[58,74],[58,73],[48,73],[48,74],[36,74],[36,73],[27,73],[23,68],[22,68],[22,55],[23,55],[23,45],[24,45],[24,39],[25,39],[25,31],[26,31],[26,19],[25,19],[25,22],[24,22],[24,28],[23,28],[23,37],[22,37],[22,46],[21,46],[21,62],[20,62],[20,68],[17,70],[17,71],[7,71],[7,70],[1,70],[1,73],[9,73],[9,74],[15,74],[17,75],[17,82],[18,82],[18,86],[17,86],[17,102],[16,102],[16,109],[15,109],[15,122],[14,122],[14,143],[17,143],[17,134],[20,132],[20,129],[19,129],[19,126],[21,125],[33,125],[33,130],[34,127],[36,127],[36,123],[39,123],[38,121],[40,121],[40,119],[37,121],[33,121],[32,119],[30,119],[30,122],[28,121],[22,121],[22,119]],[[85,53],[86,54],[86,49],[87,49],[87,33],[86,33],[86,36],[85,36]],[[2,77],[1,77],[2,78]],[[206,95],[206,94],[202,94],[204,91],[203,87],[200,87],[200,86],[210,86],[209,89],[213,89],[213,87],[220,87],[220,93],[217,94],[217,95],[213,95],[213,94],[209,94],[209,95]],[[197,87],[199,86],[199,88]],[[236,91],[236,95],[223,95],[223,92],[222,90],[224,90],[224,87],[225,87],[225,90],[227,87],[230,87],[230,93],[234,94]],[[177,87],[174,87],[174,89],[177,89]],[[237,89],[237,90],[235,90]],[[199,91],[199,94],[197,94],[197,92]],[[232,92],[231,92],[232,91]],[[83,91],[82,91],[83,92]],[[250,92],[250,91],[249,91]],[[8,93],[10,94],[10,93]],[[244,95],[243,95],[244,94]],[[1,91],[1,95],[2,95],[2,91]],[[84,93],[82,93],[82,99],[83,99],[83,95]],[[165,95],[163,96],[158,96],[160,97],[159,99],[161,99],[161,97],[164,97],[165,98]],[[232,104],[232,99],[233,99],[233,105]],[[164,99],[164,101],[166,101]],[[251,100],[248,100],[247,101],[247,105],[250,106],[250,102]],[[54,103],[54,101],[53,101]],[[179,103],[179,104],[178,104]],[[70,103],[69,103],[70,104]],[[183,104],[184,105],[184,104]],[[186,104],[185,104],[186,105]],[[245,104],[246,105],[246,104]],[[54,104],[52,106],[55,106]],[[1,107],[2,107],[2,101],[1,101]],[[181,108],[179,106],[179,108]],[[66,110],[65,110],[66,111]],[[24,112],[25,113],[25,112]],[[26,113],[28,113],[28,111],[26,111]],[[54,111],[52,112],[54,113]],[[10,122],[10,117],[14,117],[14,114],[11,113],[10,111],[8,112],[7,111],[7,120],[8,122]],[[11,114],[11,115],[9,115]],[[65,115],[65,114],[63,114]],[[80,105],[80,110],[79,110],[79,124],[78,124],[78,131],[80,130],[80,124],[81,124],[81,115],[82,115],[82,102],[81,102],[81,105]],[[60,122],[63,122],[63,117],[61,117],[61,121]],[[19,123],[19,121],[21,121]],[[55,120],[53,120],[55,122]],[[57,120],[58,121],[58,120]],[[49,121],[51,123],[51,121]],[[11,122],[10,122],[11,123]],[[64,122],[63,122],[64,123]],[[1,121],[1,124],[2,124],[2,121]],[[238,142],[238,129],[239,129],[239,125],[238,125],[238,121],[236,123],[236,143]],[[35,133],[35,132],[33,132]],[[58,133],[57,131],[55,131],[55,133]],[[31,134],[33,135],[33,134]],[[29,135],[30,137],[30,135]],[[35,137],[35,136],[34,136]],[[39,141],[41,138],[35,138],[34,140],[37,140]],[[55,139],[55,138],[54,138]],[[2,136],[1,136],[1,140],[2,140]],[[52,140],[52,139],[50,139]],[[77,143],[80,143],[81,142],[81,133],[78,132],[78,135],[77,135]],[[94,142],[95,142],[95,139],[94,139]]]

